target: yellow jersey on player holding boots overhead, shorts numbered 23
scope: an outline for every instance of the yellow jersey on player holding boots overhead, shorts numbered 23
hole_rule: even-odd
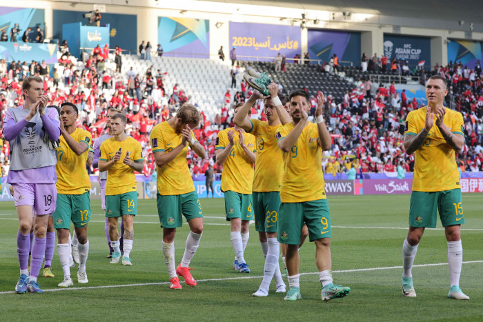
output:
[[[284,159],[275,134],[277,134],[277,129],[281,124],[270,126],[268,122],[257,119],[251,119],[250,122],[252,128],[248,133],[253,134],[257,140],[253,191],[280,191],[282,177],[284,176]]]

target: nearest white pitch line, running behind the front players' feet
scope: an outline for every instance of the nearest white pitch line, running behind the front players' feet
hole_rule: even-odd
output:
[[[483,263],[482,261],[464,261],[464,264],[471,263]],[[442,266],[448,265],[448,263],[430,263],[430,264],[419,264],[413,265],[413,268],[422,268],[428,266]],[[401,269],[402,266],[388,266],[380,268],[356,268],[354,270],[333,270],[333,273],[350,273],[350,272],[371,272],[373,270],[395,270]],[[300,273],[300,275],[315,275],[319,272],[308,272]],[[198,279],[197,282],[213,282],[213,281],[235,281],[240,279],[262,279],[264,276],[242,276],[242,277],[226,277],[224,279]],[[122,284],[122,285],[100,285],[100,286],[86,286],[85,288],[52,288],[48,290],[43,290],[43,292],[59,292],[59,291],[70,291],[70,290],[95,290],[99,288],[132,288],[135,286],[147,286],[147,285],[168,285],[170,282],[157,282],[157,283],[137,283],[137,284]],[[182,281],[181,283],[184,283]],[[0,294],[14,294],[15,291],[0,292]]]

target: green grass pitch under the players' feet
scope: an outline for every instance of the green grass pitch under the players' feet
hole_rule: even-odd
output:
[[[351,287],[344,299],[324,303],[315,266],[315,247],[300,250],[302,301],[287,303],[275,293],[251,296],[262,281],[264,259],[255,226],[245,259],[252,272],[233,270],[229,225],[223,199],[202,199],[204,233],[191,262],[198,285],[170,290],[161,250],[161,229],[154,200],[139,200],[135,218],[132,266],[112,265],[100,202],[92,201],[88,228],[89,283],[61,289],[57,248],[52,261],[55,278],[39,276],[43,294],[14,294],[19,276],[15,235],[17,215],[10,202],[0,203],[0,312],[3,321],[37,320],[161,320],[161,321],[428,321],[483,320],[482,194],[464,194],[462,225],[464,264],[460,285],[470,301],[447,299],[449,269],[441,226],[426,230],[415,259],[417,298],[401,293],[402,242],[407,233],[409,195],[329,197],[332,220],[334,282]],[[176,262],[181,261],[188,225],[177,231]],[[282,272],[283,263],[280,260]],[[436,265],[431,265],[436,264]],[[182,279],[181,279],[182,280]],[[288,283],[287,283],[288,284]],[[117,286],[117,287],[116,287]]]

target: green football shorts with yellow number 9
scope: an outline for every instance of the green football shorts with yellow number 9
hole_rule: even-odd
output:
[[[331,238],[331,214],[327,199],[281,203],[279,213],[277,239],[280,243],[298,245],[304,223],[310,241]]]

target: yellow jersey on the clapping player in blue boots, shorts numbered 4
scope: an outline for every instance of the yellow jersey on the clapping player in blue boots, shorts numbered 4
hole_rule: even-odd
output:
[[[233,128],[226,128],[218,132],[215,150],[224,150],[228,141],[228,132]],[[255,148],[255,137],[253,134],[245,133],[245,145],[253,152]],[[221,176],[221,190],[233,191],[240,194],[251,194],[253,186],[253,162],[246,155],[242,146],[239,144],[239,133],[235,131],[233,137],[235,145],[230,150],[230,154],[223,163],[223,175]]]

